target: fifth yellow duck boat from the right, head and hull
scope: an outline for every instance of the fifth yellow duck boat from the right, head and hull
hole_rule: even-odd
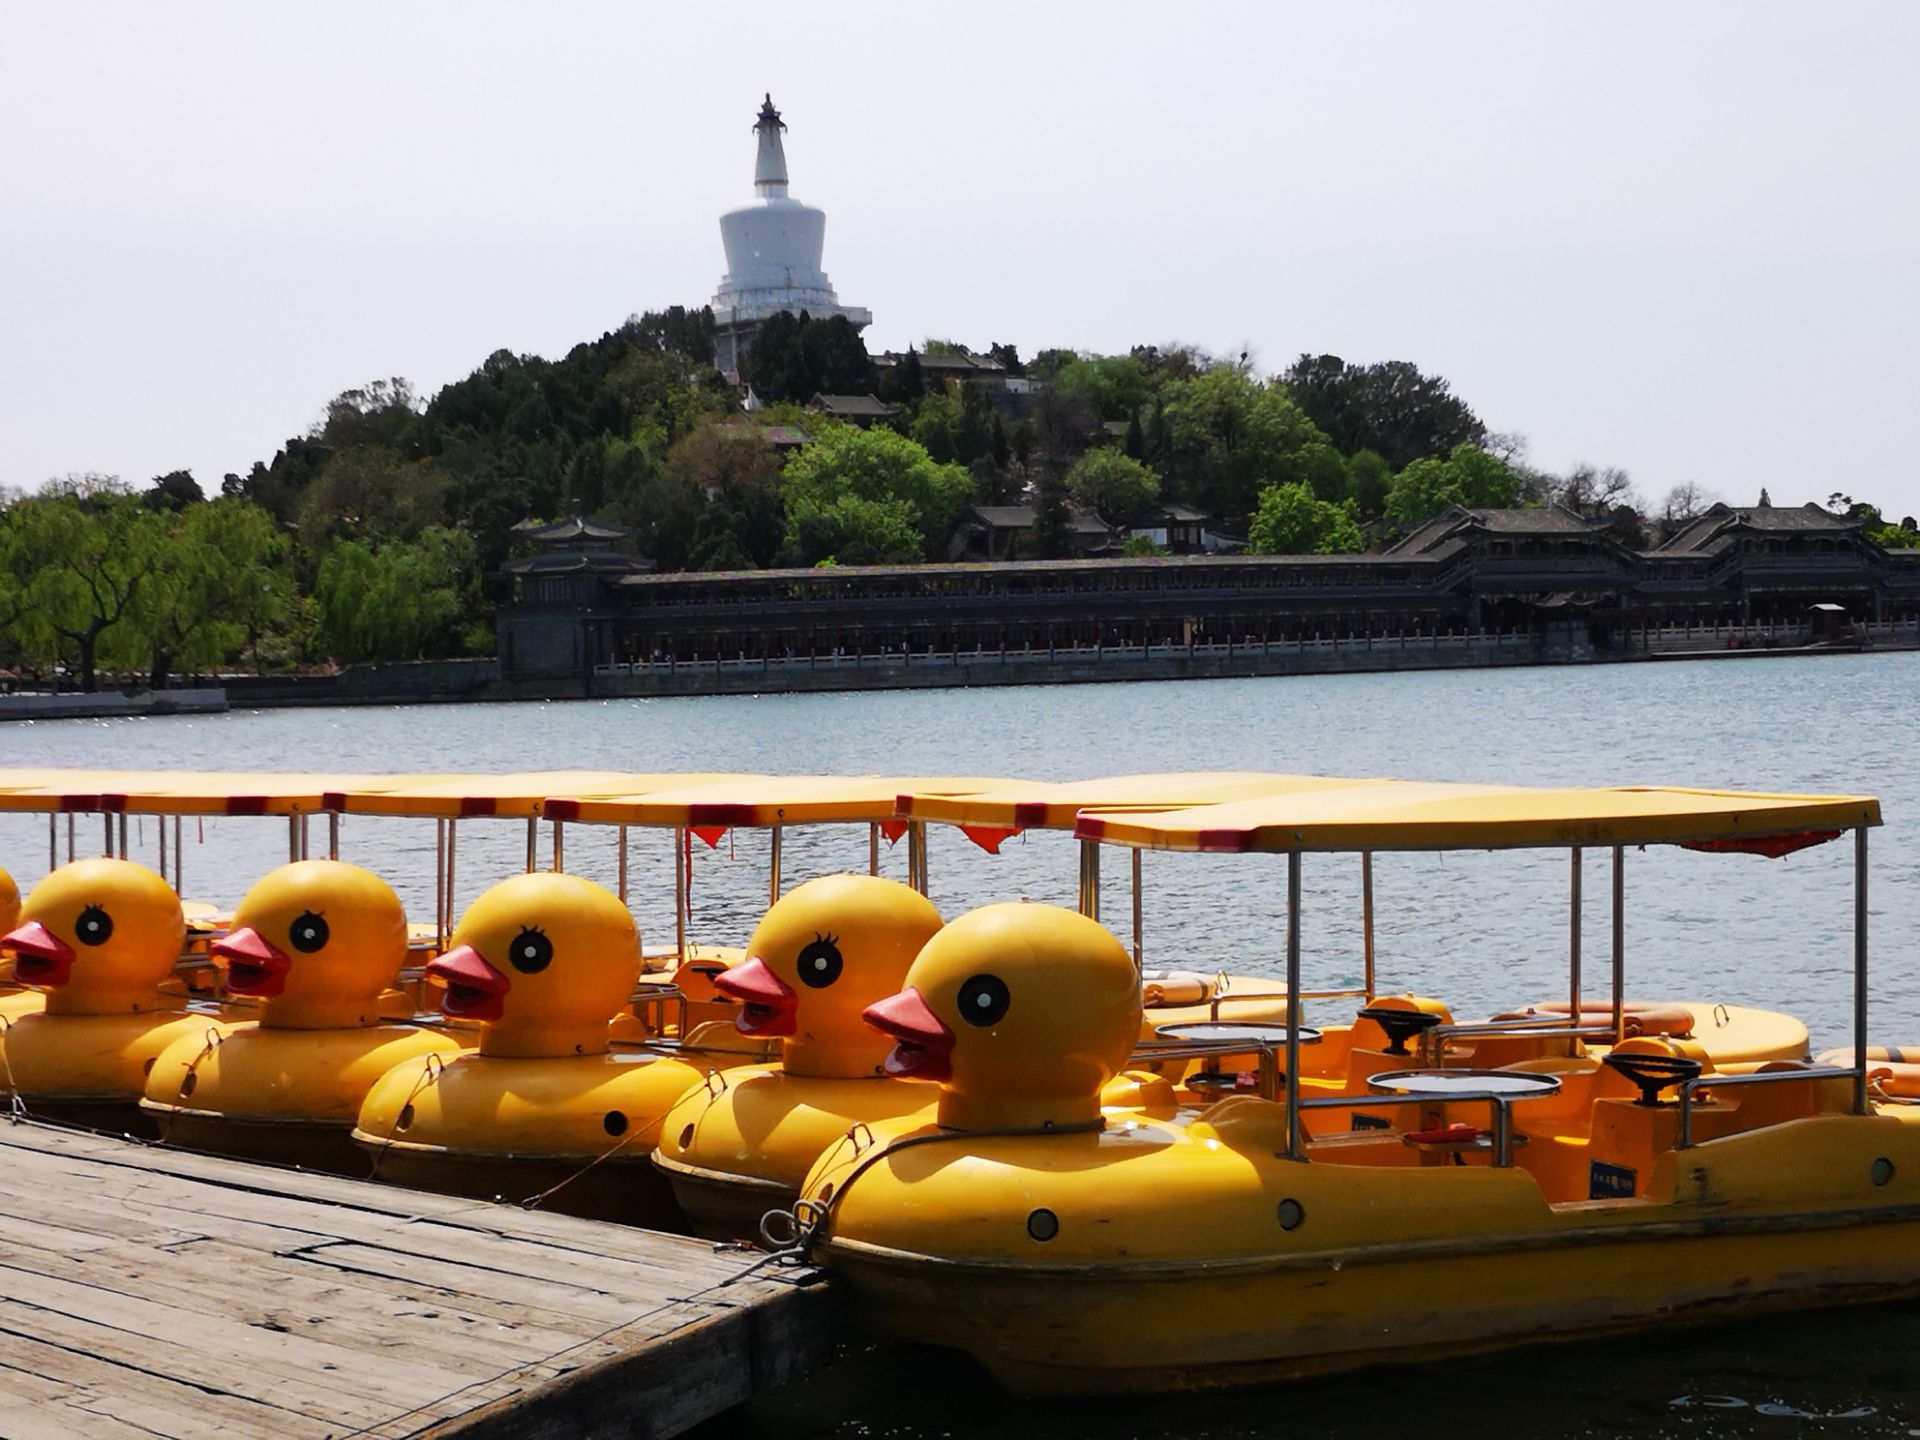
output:
[[[131,860],[73,860],[35,885],[0,948],[44,1002],[0,1014],[0,1094],[44,1119],[154,1135],[148,1069],[213,1023],[161,995],[184,937],[180,899]]]

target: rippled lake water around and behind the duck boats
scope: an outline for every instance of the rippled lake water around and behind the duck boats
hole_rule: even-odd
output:
[[[1920,772],[1912,766],[1920,655],[1690,664],[1062,685],[891,695],[781,695],[551,705],[267,710],[211,718],[61,720],[0,728],[0,764],[207,770],[751,770],[1077,778],[1139,770],[1284,770],[1517,783],[1674,783],[1878,795],[1872,835],[1874,1037],[1920,1041]],[[186,891],[232,902],[284,856],[282,822],[188,822]],[[81,822],[81,851],[98,824]],[[134,829],[154,854],[154,824]],[[319,839],[319,835],[317,835]],[[634,831],[632,902],[649,941],[672,931],[672,858]],[[344,858],[386,874],[432,914],[426,822],[349,818]],[[0,864],[25,887],[46,868],[44,818],[0,816]],[[459,899],[522,866],[515,822],[461,826]],[[789,831],[789,881],[864,868],[864,828]],[[904,845],[887,874],[902,876]],[[605,831],[570,826],[566,868],[612,881]],[[1609,876],[1586,862],[1586,973],[1607,973]],[[947,916],[1031,897],[1071,904],[1064,835],[998,856],[956,831],[931,837],[931,895]],[[1271,973],[1284,862],[1150,854],[1150,962]],[[1569,860],[1488,852],[1380,856],[1382,989],[1446,996],[1463,1014],[1565,991]],[[695,935],[741,941],[766,900],[766,839],[730,835],[695,862]],[[1127,872],[1110,852],[1110,924]],[[1308,983],[1359,977],[1359,877],[1336,856],[1306,866]],[[1791,1010],[1814,1044],[1847,1041],[1853,851],[1764,860],[1672,849],[1626,860],[1628,987]],[[1371,1434],[1430,1427],[1432,1405],[1475,1405],[1496,1432],[1603,1436],[1920,1436],[1920,1308],[1801,1317],[1620,1340],[1515,1359],[1386,1373],[1204,1402],[1010,1405],[964,1363],[874,1352],[764,1402],[728,1428],[778,1436]],[[1452,1425],[1448,1425],[1452,1428]],[[716,1434],[722,1430],[716,1430]]]

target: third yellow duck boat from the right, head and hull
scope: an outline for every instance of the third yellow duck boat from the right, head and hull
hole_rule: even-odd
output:
[[[426,968],[447,987],[442,1010],[480,1023],[478,1048],[409,1060],[374,1083],[353,1131],[374,1175],[680,1225],[653,1167],[660,1119],[708,1071],[766,1052],[707,1050],[699,1031],[678,1050],[609,1052],[609,1018],[639,972],[634,918],[601,885],[534,872],[480,895]]]

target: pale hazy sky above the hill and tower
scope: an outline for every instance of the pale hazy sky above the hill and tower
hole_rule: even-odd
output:
[[[1411,359],[1536,465],[1914,513],[1916,65],[1905,0],[0,0],[0,484],[705,303],[772,90],[874,349]]]

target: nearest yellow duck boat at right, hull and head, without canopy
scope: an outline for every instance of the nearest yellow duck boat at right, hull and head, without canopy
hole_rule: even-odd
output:
[[[1020,1392],[1263,1382],[1920,1292],[1916,1108],[1851,1114],[1847,1071],[1720,1075],[1638,1037],[1603,1062],[1375,1073],[1377,1098],[1407,1100],[1380,1106],[1390,1127],[1319,1127],[1340,1112],[1302,1104],[1315,1127],[1290,1158],[1288,1104],[1102,1119],[1137,1033],[1133,966],[1092,922],[1018,904],[947,925],[868,1016],[891,1069],[939,1083],[937,1117],[824,1154],[806,1248],[870,1329],[968,1350]],[[1676,1085],[1686,1106],[1661,1098]]]

